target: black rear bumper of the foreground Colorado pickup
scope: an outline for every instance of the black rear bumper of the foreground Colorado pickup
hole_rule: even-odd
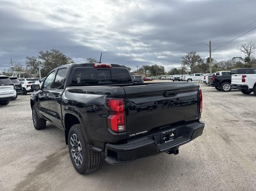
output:
[[[182,135],[170,140],[168,142],[160,144],[160,135],[168,130],[183,130]],[[186,124],[183,126],[177,126],[161,132],[152,133],[145,137],[132,140],[125,144],[106,144],[105,155],[106,162],[123,163],[134,161],[138,158],[157,155],[162,152],[178,149],[179,146],[190,142],[191,140],[202,135],[204,129],[204,122],[194,122],[192,124]]]

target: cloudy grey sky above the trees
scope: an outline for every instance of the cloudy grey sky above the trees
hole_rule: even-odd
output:
[[[10,58],[25,65],[26,56],[52,48],[76,63],[99,59],[102,52],[106,63],[132,70],[159,64],[168,71],[191,50],[204,57],[208,47],[198,43],[211,40],[214,49],[256,27],[244,28],[256,21],[255,8],[255,0],[0,0],[0,71]],[[256,30],[212,57],[243,56],[237,47],[250,41],[256,41]]]

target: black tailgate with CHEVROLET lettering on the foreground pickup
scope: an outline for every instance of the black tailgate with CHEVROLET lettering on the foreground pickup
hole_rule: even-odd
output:
[[[198,83],[152,83],[124,87],[127,136],[198,119]]]

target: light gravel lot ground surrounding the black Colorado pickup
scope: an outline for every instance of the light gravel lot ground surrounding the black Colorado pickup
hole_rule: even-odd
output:
[[[200,86],[204,132],[180,154],[102,158],[89,175],[73,168],[62,130],[34,129],[30,95],[18,96],[0,106],[0,190],[256,190],[256,96]]]

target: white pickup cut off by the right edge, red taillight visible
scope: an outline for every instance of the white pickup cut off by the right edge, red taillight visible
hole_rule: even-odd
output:
[[[246,68],[245,74],[233,74],[231,85],[233,88],[241,90],[243,94],[254,93],[256,95],[256,68]]]

